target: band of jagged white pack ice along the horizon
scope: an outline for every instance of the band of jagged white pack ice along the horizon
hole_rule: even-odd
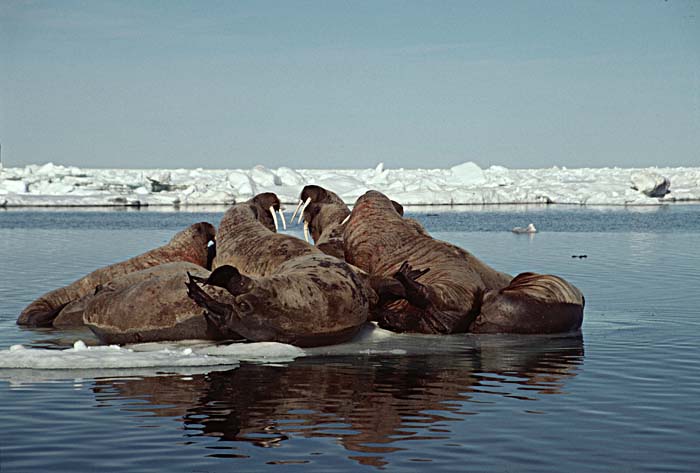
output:
[[[260,192],[296,204],[318,184],[347,203],[369,189],[404,205],[659,205],[700,201],[700,167],[481,169],[81,169],[52,163],[0,168],[0,206],[219,205]],[[670,191],[670,192],[667,192]]]

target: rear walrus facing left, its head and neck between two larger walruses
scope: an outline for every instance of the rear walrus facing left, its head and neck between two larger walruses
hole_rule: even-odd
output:
[[[310,185],[301,191],[300,200],[309,205],[304,210],[304,221],[309,225],[309,233],[316,247],[327,255],[345,259],[343,230],[341,225],[350,209],[337,194],[320,186]]]

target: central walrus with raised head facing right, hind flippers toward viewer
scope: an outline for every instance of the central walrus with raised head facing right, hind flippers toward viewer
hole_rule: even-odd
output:
[[[218,236],[226,264],[207,279],[191,277],[190,297],[222,333],[251,341],[318,346],[350,339],[367,320],[371,289],[344,261],[270,231],[258,213],[250,202],[226,212]],[[225,294],[211,294],[211,286]]]

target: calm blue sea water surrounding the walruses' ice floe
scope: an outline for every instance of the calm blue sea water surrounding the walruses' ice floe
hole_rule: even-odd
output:
[[[0,370],[0,471],[698,471],[700,206],[429,212],[412,216],[500,270],[576,284],[582,335],[395,337],[395,353],[191,372]],[[14,321],[221,213],[0,212],[0,350],[88,340]],[[530,222],[540,233],[509,231]]]

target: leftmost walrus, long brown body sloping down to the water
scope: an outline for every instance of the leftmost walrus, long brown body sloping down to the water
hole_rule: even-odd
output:
[[[97,269],[68,286],[55,289],[29,304],[19,315],[17,323],[32,327],[51,325],[68,303],[94,294],[99,285],[159,264],[189,261],[198,266],[208,264],[208,243],[214,238],[214,227],[206,222],[195,223],[177,233],[167,244],[129,260]]]

